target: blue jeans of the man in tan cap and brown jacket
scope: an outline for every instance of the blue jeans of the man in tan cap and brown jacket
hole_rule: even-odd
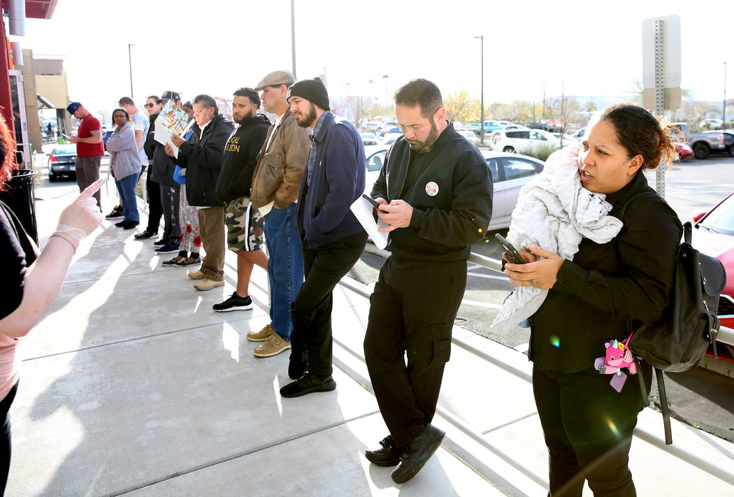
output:
[[[297,204],[272,208],[265,220],[270,281],[270,322],[275,332],[291,341],[291,302],[303,283],[303,254],[296,231]]]

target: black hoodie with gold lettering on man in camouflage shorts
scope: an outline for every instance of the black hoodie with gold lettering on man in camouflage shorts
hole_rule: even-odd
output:
[[[269,128],[268,118],[257,115],[241,123],[227,140],[222,171],[217,180],[217,195],[225,202],[250,197],[252,173]]]

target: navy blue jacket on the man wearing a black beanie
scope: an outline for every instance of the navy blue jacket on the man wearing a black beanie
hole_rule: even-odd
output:
[[[308,186],[308,171],[303,173],[297,214],[298,233],[307,248],[363,231],[349,206],[365,189],[365,149],[352,123],[327,111],[311,139],[316,160]]]

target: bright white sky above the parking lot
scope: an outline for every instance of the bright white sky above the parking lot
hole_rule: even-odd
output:
[[[680,15],[683,88],[697,100],[734,98],[732,0],[294,0],[299,78],[326,74],[330,95],[385,99],[424,77],[444,95],[484,100],[625,95],[642,80],[642,20]],[[34,57],[65,60],[69,97],[92,112],[181,92],[230,97],[271,70],[291,69],[290,0],[59,0],[50,21],[10,37]],[[693,5],[695,4],[695,8]],[[727,59],[727,57],[732,57]],[[388,75],[387,79],[383,78]],[[374,81],[370,83],[369,81]]]

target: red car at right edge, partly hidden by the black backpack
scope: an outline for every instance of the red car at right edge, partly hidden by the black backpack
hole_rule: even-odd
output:
[[[722,261],[727,272],[727,286],[719,300],[719,319],[722,325],[734,328],[734,193],[718,206],[693,217],[693,246],[702,253]],[[719,342],[719,359],[734,361],[734,347]],[[713,356],[710,349],[707,355]]]

